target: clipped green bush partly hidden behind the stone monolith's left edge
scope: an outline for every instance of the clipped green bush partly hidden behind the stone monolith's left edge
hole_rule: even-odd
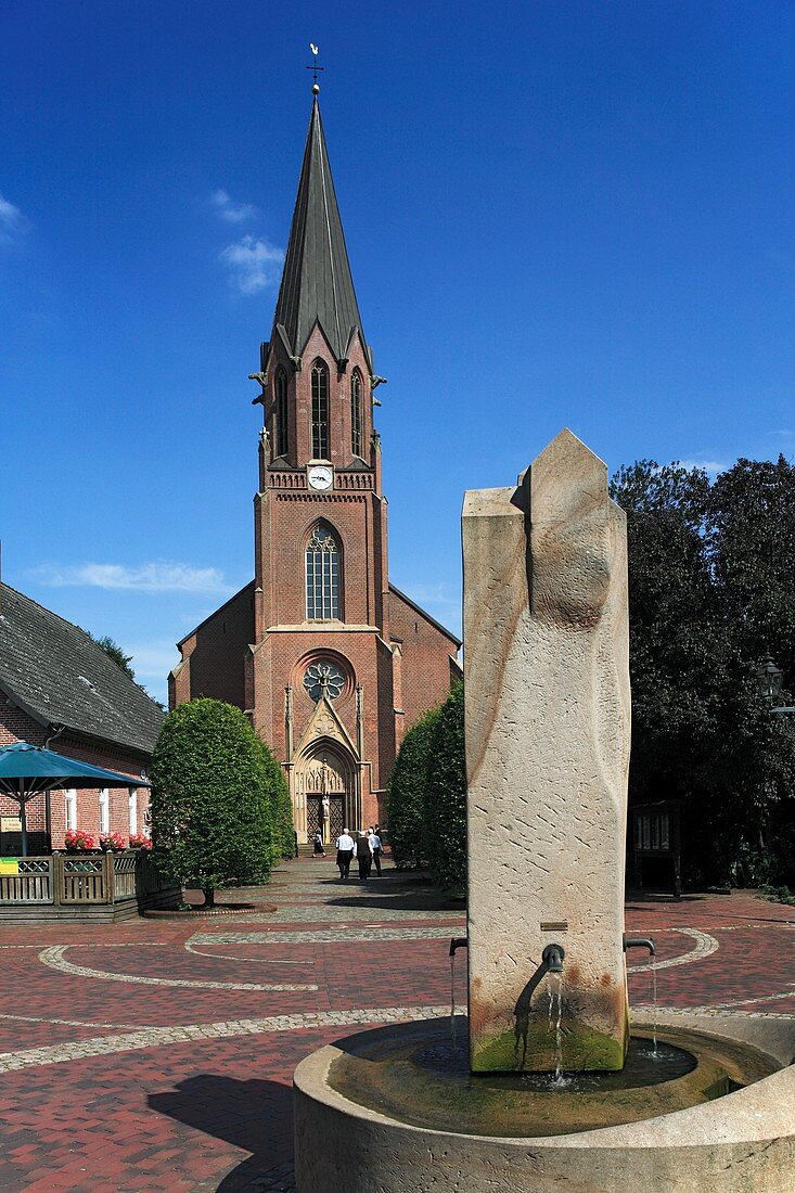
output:
[[[439,886],[467,880],[464,694],[458,684],[433,722],[425,786],[426,847]]]

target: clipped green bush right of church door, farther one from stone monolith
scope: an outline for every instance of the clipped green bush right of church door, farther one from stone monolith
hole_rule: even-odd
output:
[[[408,730],[387,784],[389,843],[399,870],[414,869],[427,861],[425,789],[438,716],[439,709],[431,709]]]

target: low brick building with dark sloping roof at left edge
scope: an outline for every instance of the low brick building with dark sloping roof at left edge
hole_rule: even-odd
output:
[[[68,828],[124,837],[143,828],[146,778],[162,710],[93,638],[0,583],[0,746],[26,741],[130,775],[130,787],[73,790],[27,804],[30,852],[63,846]],[[19,806],[0,797],[0,854],[19,851]]]

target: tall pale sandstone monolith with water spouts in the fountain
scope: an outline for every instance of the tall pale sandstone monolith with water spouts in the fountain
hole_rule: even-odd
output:
[[[526,996],[555,942],[562,1068],[621,1069],[627,536],[606,466],[562,431],[517,488],[466,495],[463,555],[470,1067],[555,1068],[548,982]]]

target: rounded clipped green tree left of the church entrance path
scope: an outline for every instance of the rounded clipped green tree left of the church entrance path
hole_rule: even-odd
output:
[[[230,879],[267,878],[273,857],[263,743],[240,709],[201,699],[178,705],[152,760],[155,860],[199,886],[205,904]]]

